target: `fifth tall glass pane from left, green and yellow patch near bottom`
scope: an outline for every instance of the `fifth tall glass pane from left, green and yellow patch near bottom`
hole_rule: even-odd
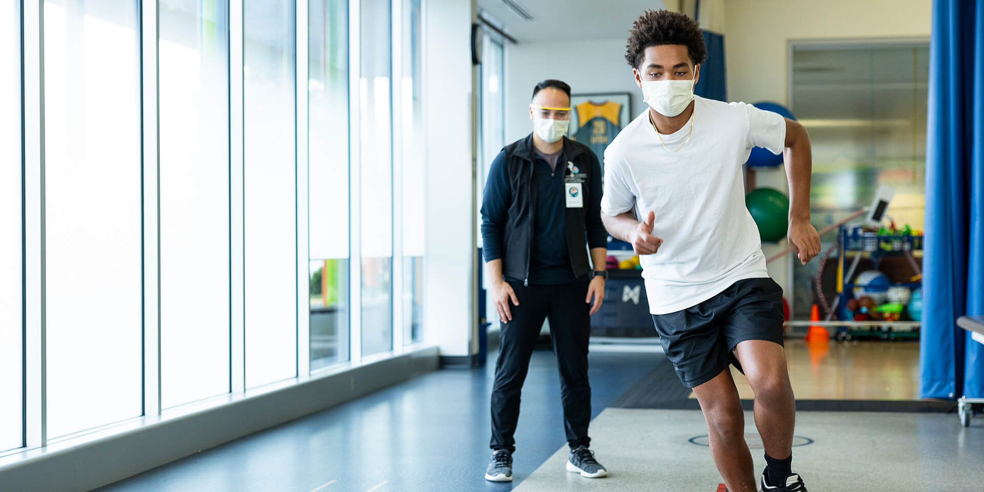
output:
[[[308,37],[311,369],[348,360],[348,1],[312,0]]]

